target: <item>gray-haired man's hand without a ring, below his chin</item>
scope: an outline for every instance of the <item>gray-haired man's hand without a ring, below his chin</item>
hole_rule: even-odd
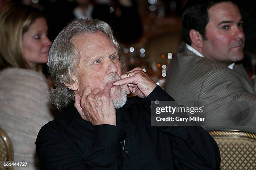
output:
[[[75,95],[74,106],[78,110],[82,119],[92,123],[92,125],[116,125],[116,112],[113,100],[110,97],[112,83],[108,83],[103,90],[86,87],[82,92]]]

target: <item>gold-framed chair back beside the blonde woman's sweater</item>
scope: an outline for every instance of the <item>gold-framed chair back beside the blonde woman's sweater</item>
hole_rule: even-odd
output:
[[[0,128],[0,161],[13,161],[13,148],[8,135]],[[3,170],[4,168],[0,168]],[[5,168],[5,170],[11,168]]]

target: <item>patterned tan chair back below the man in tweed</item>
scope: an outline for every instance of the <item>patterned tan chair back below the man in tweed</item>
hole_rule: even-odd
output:
[[[220,170],[256,170],[256,134],[209,131],[220,148]]]

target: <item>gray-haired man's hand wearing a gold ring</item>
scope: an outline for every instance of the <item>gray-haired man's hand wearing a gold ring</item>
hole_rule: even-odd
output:
[[[144,98],[156,87],[156,83],[141,68],[134,68],[128,73],[130,77],[125,73],[121,75],[121,80],[113,83],[113,85],[123,85],[127,94],[132,92],[136,96]]]

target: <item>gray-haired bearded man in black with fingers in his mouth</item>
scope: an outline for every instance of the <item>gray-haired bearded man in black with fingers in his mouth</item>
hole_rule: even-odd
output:
[[[218,145],[202,127],[151,126],[151,101],[174,100],[141,68],[121,75],[122,62],[105,22],[74,20],[59,33],[49,71],[61,113],[38,133],[41,169],[218,169]]]

